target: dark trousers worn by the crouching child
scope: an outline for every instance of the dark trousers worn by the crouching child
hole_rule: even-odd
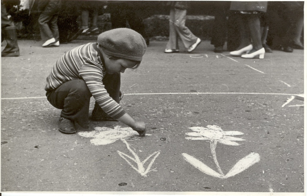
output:
[[[120,74],[106,74],[102,81],[110,97],[119,103]],[[55,90],[48,91],[46,96],[52,106],[62,110],[61,117],[70,119],[83,128],[88,127],[88,110],[92,94],[84,80],[76,79],[63,83]],[[105,115],[97,102],[93,114]]]

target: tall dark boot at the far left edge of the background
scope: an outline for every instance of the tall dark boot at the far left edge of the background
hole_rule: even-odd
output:
[[[1,52],[1,56],[2,57],[19,56],[16,28],[13,26],[9,26],[3,29],[7,44],[6,47],[3,49],[3,51]]]

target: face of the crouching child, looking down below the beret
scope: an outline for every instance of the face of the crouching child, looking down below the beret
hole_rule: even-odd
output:
[[[112,57],[106,58],[104,62],[108,74],[124,73],[127,68],[132,68],[136,65],[134,61],[128,59],[114,59]]]

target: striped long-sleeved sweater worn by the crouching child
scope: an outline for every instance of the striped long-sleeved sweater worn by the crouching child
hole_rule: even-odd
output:
[[[117,119],[126,112],[115,102],[102,83],[106,67],[97,43],[88,43],[66,52],[53,66],[47,77],[46,91],[74,79],[83,79],[99,106]]]

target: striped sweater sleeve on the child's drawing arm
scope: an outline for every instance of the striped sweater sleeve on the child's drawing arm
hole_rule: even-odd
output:
[[[117,119],[126,113],[107,93],[102,83],[102,70],[95,65],[95,62],[84,63],[79,70],[79,75],[85,81],[96,102],[109,116]]]

